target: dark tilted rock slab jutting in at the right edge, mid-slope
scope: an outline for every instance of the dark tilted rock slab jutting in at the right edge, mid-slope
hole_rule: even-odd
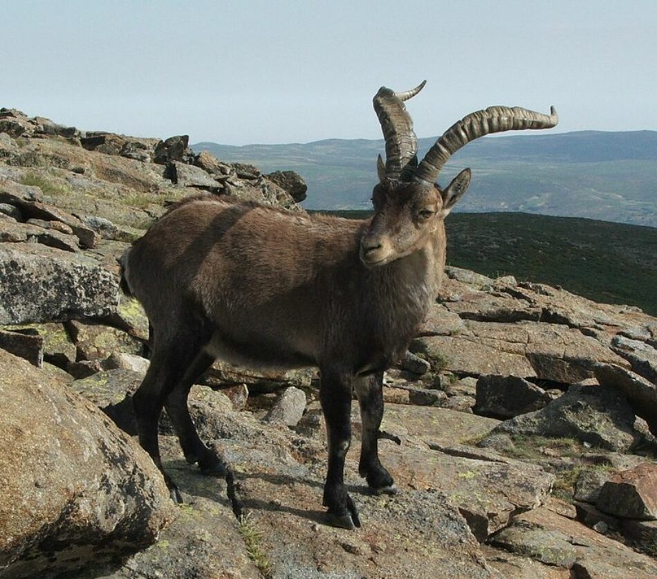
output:
[[[595,378],[609,388],[627,396],[632,410],[648,423],[650,432],[657,436],[657,385],[638,374],[611,364],[595,366]]]

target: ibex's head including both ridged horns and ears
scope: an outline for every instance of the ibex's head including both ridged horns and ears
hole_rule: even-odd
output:
[[[463,169],[444,189],[436,183],[447,160],[463,145],[481,136],[520,129],[549,129],[559,120],[554,107],[549,115],[521,107],[490,107],[456,122],[429,149],[418,164],[418,140],[405,100],[415,89],[396,93],[382,86],[374,96],[385,137],[386,160],[378,158],[379,183],[374,187],[374,217],[360,243],[360,258],[367,266],[380,266],[425,246],[441,227],[470,185],[470,169]]]

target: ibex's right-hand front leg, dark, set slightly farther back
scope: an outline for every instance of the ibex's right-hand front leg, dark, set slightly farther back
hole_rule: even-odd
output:
[[[383,372],[355,378],[354,389],[362,422],[358,472],[374,493],[394,494],[397,488],[378,456],[378,436],[383,418]]]

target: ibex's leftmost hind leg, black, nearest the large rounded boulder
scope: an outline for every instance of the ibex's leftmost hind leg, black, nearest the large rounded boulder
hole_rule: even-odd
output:
[[[169,338],[168,336],[174,336]],[[174,502],[183,502],[173,479],[167,475],[160,459],[158,421],[167,396],[181,383],[189,367],[203,347],[203,334],[196,329],[175,335],[158,335],[153,340],[151,363],[146,376],[133,395],[139,442],[162,472]]]

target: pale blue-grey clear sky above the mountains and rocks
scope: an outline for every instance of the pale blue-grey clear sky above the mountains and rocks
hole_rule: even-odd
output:
[[[657,130],[655,0],[0,0],[0,107],[192,143],[420,137],[494,104],[555,132]]]

